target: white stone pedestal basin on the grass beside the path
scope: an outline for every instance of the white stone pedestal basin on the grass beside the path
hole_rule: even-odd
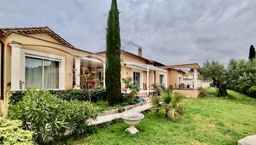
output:
[[[137,128],[134,127],[134,125],[140,123],[140,121],[144,118],[144,114],[142,113],[122,113],[121,118],[124,120],[125,123],[130,125],[129,128],[126,129],[126,131],[130,132],[131,134],[136,134],[140,132]]]

